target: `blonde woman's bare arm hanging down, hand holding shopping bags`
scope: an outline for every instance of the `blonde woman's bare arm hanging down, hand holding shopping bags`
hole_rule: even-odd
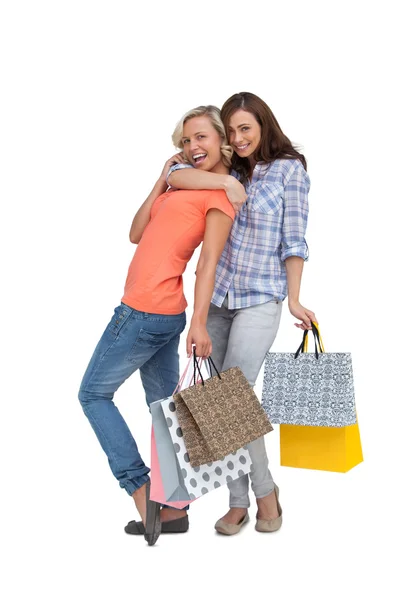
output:
[[[194,312],[186,338],[188,357],[192,353],[192,345],[196,346],[198,356],[208,357],[212,352],[211,339],[206,329],[208,309],[214,290],[217,264],[231,227],[232,219],[228,215],[216,208],[208,211],[203,247],[196,269]]]

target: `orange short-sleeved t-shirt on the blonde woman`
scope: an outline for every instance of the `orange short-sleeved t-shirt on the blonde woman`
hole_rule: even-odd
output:
[[[203,241],[211,208],[235,218],[222,190],[171,190],[157,198],[129,266],[122,302],[156,314],[185,310],[182,274]]]

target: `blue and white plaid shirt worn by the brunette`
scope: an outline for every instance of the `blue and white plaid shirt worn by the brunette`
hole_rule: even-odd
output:
[[[174,165],[168,176],[186,167],[191,165]],[[247,201],[233,222],[217,266],[213,304],[222,306],[227,294],[228,308],[286,298],[284,261],[289,256],[308,259],[304,235],[309,189],[310,178],[299,160],[257,163],[246,185]]]

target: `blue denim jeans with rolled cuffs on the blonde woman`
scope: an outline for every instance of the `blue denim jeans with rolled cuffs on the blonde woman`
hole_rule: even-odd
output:
[[[79,400],[121,488],[132,495],[150,469],[113,402],[120,385],[140,369],[146,402],[170,396],[179,381],[179,336],[185,313],[157,315],[121,304],[107,325],[86,369]]]

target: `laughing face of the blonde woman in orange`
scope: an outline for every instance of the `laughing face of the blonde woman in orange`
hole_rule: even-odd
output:
[[[192,117],[183,126],[183,152],[196,168],[212,173],[226,173],[222,163],[221,137],[206,115]]]

